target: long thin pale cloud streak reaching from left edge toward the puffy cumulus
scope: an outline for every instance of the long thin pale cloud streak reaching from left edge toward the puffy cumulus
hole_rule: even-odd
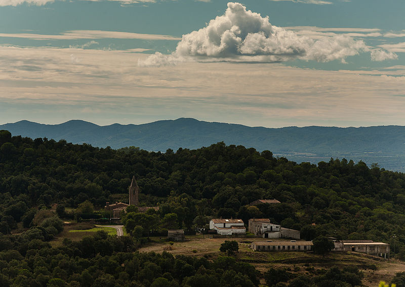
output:
[[[2,0],[0,0],[2,1]],[[145,39],[145,40],[181,40],[179,37],[158,34],[141,34],[119,31],[101,30],[72,30],[59,35],[44,35],[32,33],[0,33],[0,37],[28,38],[34,40],[70,40],[70,39]]]

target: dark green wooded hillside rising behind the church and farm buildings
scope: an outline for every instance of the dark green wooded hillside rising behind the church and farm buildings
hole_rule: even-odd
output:
[[[52,203],[77,207],[90,200],[103,207],[107,201],[128,201],[134,174],[141,205],[158,204],[161,218],[177,214],[180,227],[191,228],[198,218],[210,216],[268,217],[300,229],[308,239],[326,234],[393,243],[396,234],[396,252],[405,240],[405,175],[377,164],[345,159],[297,164],[270,151],[222,142],[166,153],[99,149],[12,137],[7,131],[0,133],[1,230],[7,233],[31,208]],[[248,205],[263,198],[281,204]]]

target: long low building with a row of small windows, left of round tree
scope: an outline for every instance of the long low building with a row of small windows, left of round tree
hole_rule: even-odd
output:
[[[255,241],[251,248],[255,251],[310,251],[312,241]]]

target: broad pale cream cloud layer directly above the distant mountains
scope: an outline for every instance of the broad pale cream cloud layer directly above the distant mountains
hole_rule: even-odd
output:
[[[134,65],[146,57],[0,45],[0,122],[194,117],[272,127],[405,123],[405,66],[319,71],[260,63]]]

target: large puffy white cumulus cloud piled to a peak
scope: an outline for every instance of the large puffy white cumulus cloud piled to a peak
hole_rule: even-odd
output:
[[[369,51],[362,40],[347,35],[317,37],[298,35],[269,22],[268,16],[247,10],[239,3],[228,3],[225,14],[206,27],[183,35],[171,55],[155,54],[140,66],[160,66],[176,61],[259,61],[292,59],[329,62]]]

